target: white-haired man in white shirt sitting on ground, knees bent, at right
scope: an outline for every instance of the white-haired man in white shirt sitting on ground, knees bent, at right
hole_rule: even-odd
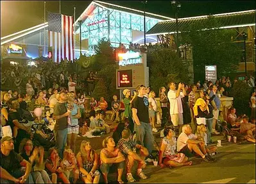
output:
[[[192,128],[189,124],[182,126],[182,133],[178,136],[177,151],[184,153],[185,156],[193,156],[193,152],[200,155],[204,162],[212,161],[205,150],[205,142],[196,140],[198,137],[192,134]]]

